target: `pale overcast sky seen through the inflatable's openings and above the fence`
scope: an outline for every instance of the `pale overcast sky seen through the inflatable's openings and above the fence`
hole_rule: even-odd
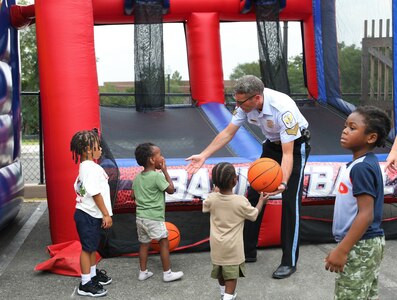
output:
[[[287,2],[288,5],[288,2]],[[391,19],[392,0],[336,0],[338,41],[361,47],[364,20],[376,20],[378,36],[379,19]],[[371,22],[369,22],[371,24]],[[300,24],[288,23],[288,57],[302,52]],[[391,29],[390,29],[391,30]],[[164,24],[164,68],[166,72],[178,71],[189,78],[186,41],[182,23]],[[386,35],[386,21],[383,36]],[[369,30],[370,32],[370,30]],[[228,79],[238,64],[258,60],[256,24],[254,22],[228,22],[220,25],[222,65],[224,78]],[[95,27],[95,52],[98,58],[98,82],[134,80],[134,27],[133,25],[107,25]]]

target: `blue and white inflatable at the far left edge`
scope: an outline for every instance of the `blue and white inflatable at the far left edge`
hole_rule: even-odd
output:
[[[9,5],[0,10],[0,230],[18,214],[23,198],[18,31]]]

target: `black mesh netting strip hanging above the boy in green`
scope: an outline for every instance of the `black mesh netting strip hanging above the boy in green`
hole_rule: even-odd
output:
[[[135,102],[137,111],[162,111],[165,105],[162,1],[134,7]]]

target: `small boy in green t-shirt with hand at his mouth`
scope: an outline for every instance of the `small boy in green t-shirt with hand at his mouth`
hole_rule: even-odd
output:
[[[139,247],[139,280],[153,276],[147,269],[147,259],[151,240],[160,245],[160,257],[163,265],[163,280],[175,281],[183,272],[172,272],[170,266],[168,231],[165,226],[165,193],[174,193],[174,184],[168,174],[165,159],[160,148],[152,143],[138,145],[135,150],[138,165],[144,167],[132,183],[131,197],[136,200],[136,227]],[[161,170],[157,172],[156,170]]]

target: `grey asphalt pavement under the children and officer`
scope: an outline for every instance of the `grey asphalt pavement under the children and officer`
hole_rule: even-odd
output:
[[[47,203],[25,202],[16,220],[0,232],[0,298],[70,299],[76,294],[77,277],[35,272],[36,264],[49,258],[46,246],[51,244]],[[247,278],[238,281],[238,299],[249,300],[331,300],[333,273],[324,270],[323,259],[335,244],[302,245],[297,272],[290,278],[274,280],[271,274],[278,266],[281,250],[262,249],[258,261],[247,264]],[[158,255],[149,257],[155,275],[140,282],[137,279],[138,258],[103,259],[99,267],[108,271],[113,283],[104,299],[219,299],[217,282],[210,278],[208,252],[173,253],[174,270],[185,273],[181,281],[163,283]],[[380,299],[397,299],[397,241],[387,241],[380,275]]]

